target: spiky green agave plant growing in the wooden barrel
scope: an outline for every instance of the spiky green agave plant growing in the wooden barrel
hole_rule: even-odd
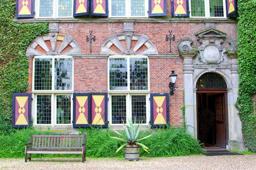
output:
[[[123,124],[124,124],[124,120],[122,120],[122,121],[123,121]],[[136,122],[135,119],[134,119],[134,122]],[[148,138],[152,135],[151,134],[151,135],[148,135],[144,138],[140,138],[142,135],[144,135],[149,130],[149,128],[151,126],[149,126],[148,129],[146,129],[145,131],[140,132],[142,122],[141,123],[139,122],[139,124],[136,126],[135,124],[132,123],[131,119],[128,119],[128,124],[129,125],[124,124],[126,137],[124,135],[122,135],[121,133],[115,131],[115,130],[114,131],[120,136],[120,138],[110,136],[110,138],[114,138],[114,139],[121,140],[121,141],[125,142],[124,145],[120,146],[116,150],[116,153],[118,151],[120,151],[125,145],[140,145],[144,151],[148,152],[147,151],[148,147],[143,145],[142,143],[139,143],[139,141],[141,141],[143,139],[146,139],[146,138]]]

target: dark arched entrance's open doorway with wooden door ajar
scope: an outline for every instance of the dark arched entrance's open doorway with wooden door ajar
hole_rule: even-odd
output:
[[[197,138],[207,147],[226,148],[227,90],[199,89],[197,98]]]

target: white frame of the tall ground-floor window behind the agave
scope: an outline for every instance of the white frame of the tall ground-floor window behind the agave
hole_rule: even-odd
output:
[[[147,90],[130,90],[130,60],[127,60],[127,90],[109,90],[109,59],[110,58],[147,58],[148,64],[148,89]],[[121,126],[123,124],[112,124],[112,96],[126,96],[126,118],[132,118],[132,96],[146,96],[146,123],[142,125],[148,125],[150,121],[150,63],[147,55],[111,55],[108,57],[108,121],[111,126]]]

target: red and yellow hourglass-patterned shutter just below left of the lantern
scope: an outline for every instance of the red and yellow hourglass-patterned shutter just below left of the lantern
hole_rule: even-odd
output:
[[[150,94],[151,127],[166,127],[169,124],[169,94]]]

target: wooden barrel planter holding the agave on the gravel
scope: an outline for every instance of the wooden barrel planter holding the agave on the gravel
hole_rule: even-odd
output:
[[[139,160],[140,145],[125,145],[124,156],[125,156],[125,160]]]

